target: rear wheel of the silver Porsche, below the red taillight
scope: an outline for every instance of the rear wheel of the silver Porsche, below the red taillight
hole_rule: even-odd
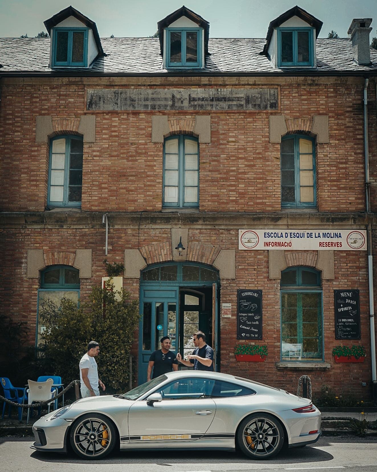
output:
[[[241,422],[237,443],[247,457],[270,459],[283,447],[284,430],[274,416],[268,413],[254,413]]]

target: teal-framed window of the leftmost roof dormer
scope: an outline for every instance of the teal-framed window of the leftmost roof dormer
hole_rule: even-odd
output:
[[[52,67],[87,67],[88,28],[53,28]]]

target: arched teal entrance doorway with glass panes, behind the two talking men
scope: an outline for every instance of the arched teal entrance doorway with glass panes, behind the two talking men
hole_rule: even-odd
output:
[[[174,353],[186,357],[195,348],[192,335],[203,331],[217,356],[217,298],[213,298],[213,287],[218,289],[219,283],[216,270],[193,262],[156,264],[141,272],[139,385],[147,381],[150,355],[161,348],[164,336],[170,337]],[[218,370],[218,363],[215,368]]]

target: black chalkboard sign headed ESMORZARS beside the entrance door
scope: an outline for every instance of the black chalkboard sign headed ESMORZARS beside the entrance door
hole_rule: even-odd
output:
[[[237,290],[237,339],[262,339],[262,290]]]

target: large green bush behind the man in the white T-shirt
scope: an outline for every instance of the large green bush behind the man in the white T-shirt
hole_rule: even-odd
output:
[[[89,302],[77,306],[63,298],[58,307],[51,300],[42,303],[39,316],[46,326],[39,346],[45,371],[62,377],[67,384],[79,379],[79,362],[91,340],[99,343],[98,376],[107,393],[128,389],[129,355],[139,323],[139,304],[129,294],[93,287]],[[116,299],[116,295],[121,300]]]

